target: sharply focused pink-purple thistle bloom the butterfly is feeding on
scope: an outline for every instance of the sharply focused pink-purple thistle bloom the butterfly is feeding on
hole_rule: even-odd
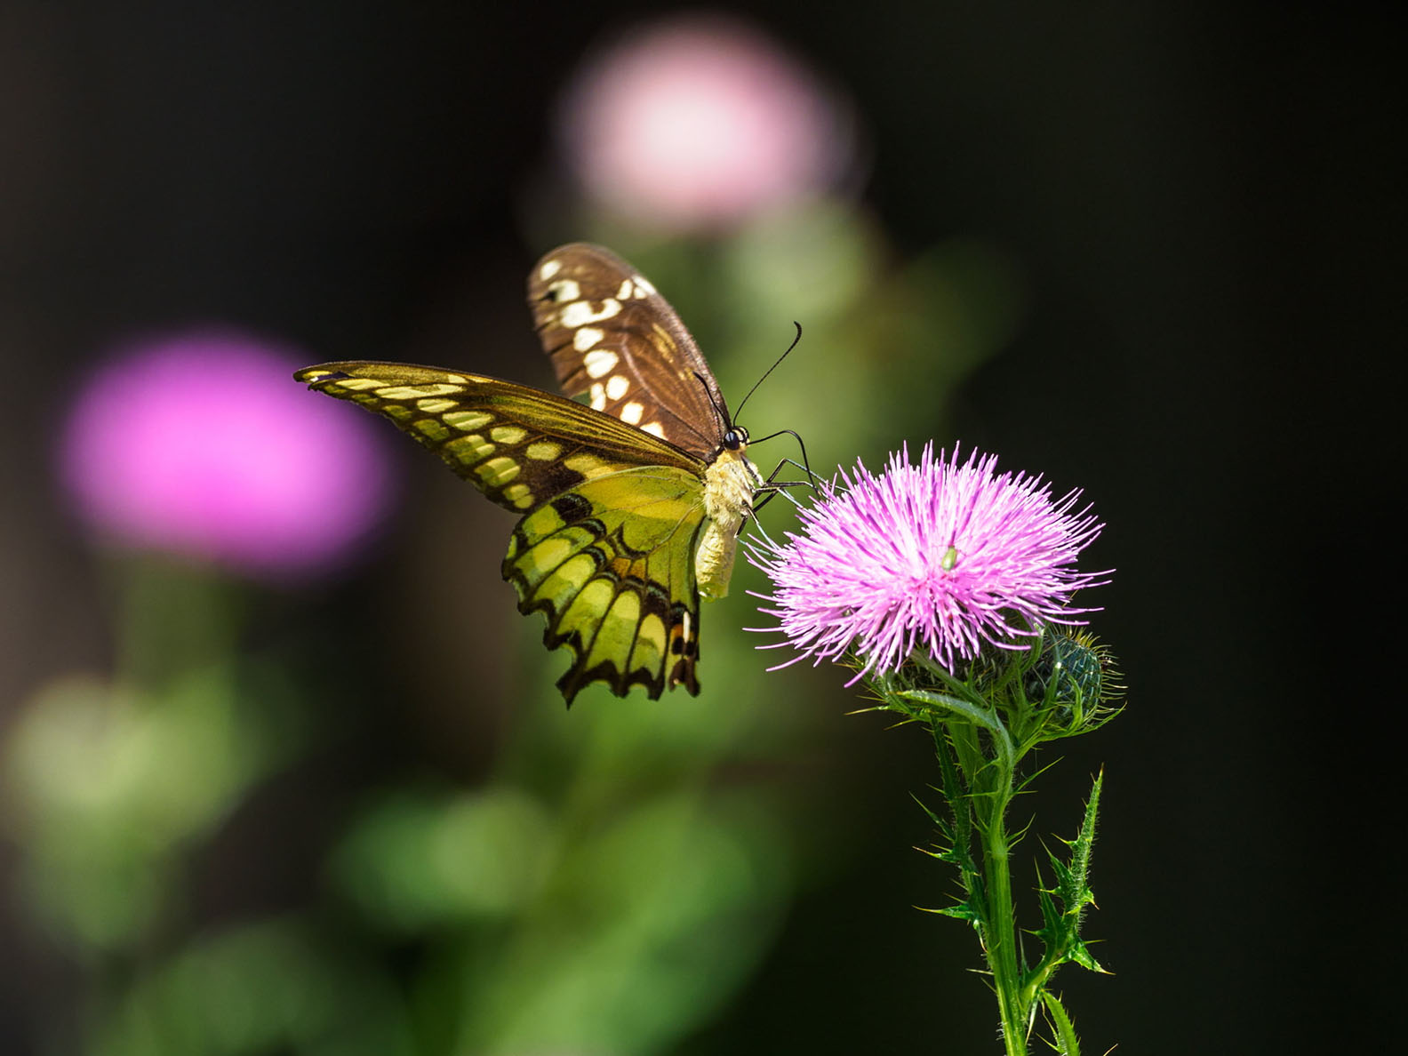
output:
[[[786,543],[752,539],[749,560],[773,582],[759,594],[800,655],[835,660],[855,652],[866,673],[898,672],[924,648],[948,670],[983,643],[1021,649],[1042,624],[1083,624],[1074,591],[1107,583],[1083,573],[1076,556],[1102,528],[1080,491],[1052,498],[1050,486],[1025,473],[995,474],[997,458],[973,452],[959,463],[919,465],[905,448],[880,476],[856,463],[842,487],[824,484],[801,508],[801,534]],[[763,646],[763,648],[777,648]],[[787,666],[779,665],[779,666]],[[776,670],[776,669],[774,669]]]

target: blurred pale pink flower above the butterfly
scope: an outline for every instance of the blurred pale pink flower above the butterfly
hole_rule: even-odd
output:
[[[815,79],[756,30],[686,17],[589,61],[560,131],[589,194],[674,228],[729,224],[835,182],[849,125]]]

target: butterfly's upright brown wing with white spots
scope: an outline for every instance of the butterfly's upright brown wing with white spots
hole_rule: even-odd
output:
[[[679,315],[631,265],[601,246],[565,245],[529,273],[528,303],[567,396],[714,458],[727,415],[718,383]]]

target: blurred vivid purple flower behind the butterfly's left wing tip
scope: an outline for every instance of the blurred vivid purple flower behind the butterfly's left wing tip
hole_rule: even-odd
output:
[[[90,527],[255,574],[346,560],[387,508],[369,422],[289,384],[306,353],[231,329],[127,345],[68,414],[63,482]]]

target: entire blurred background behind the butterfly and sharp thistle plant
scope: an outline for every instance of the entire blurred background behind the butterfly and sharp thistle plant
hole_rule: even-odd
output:
[[[567,712],[508,517],[287,379],[548,386],[580,238],[735,404],[803,322],[755,435],[1107,521],[1129,707],[1025,845],[1105,766],[1088,1052],[1391,1046],[1390,11],[0,6],[0,1050],[1000,1050],[924,738],[766,672],[750,569],[697,700]]]

